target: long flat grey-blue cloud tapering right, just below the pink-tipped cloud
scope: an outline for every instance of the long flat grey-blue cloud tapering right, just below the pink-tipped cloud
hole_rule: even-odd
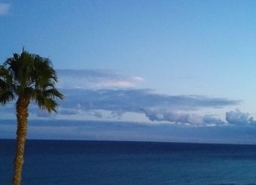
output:
[[[239,101],[204,96],[170,96],[150,89],[63,89],[64,108],[83,110],[110,110],[143,113],[144,110],[198,110],[205,107],[221,108],[237,105]]]

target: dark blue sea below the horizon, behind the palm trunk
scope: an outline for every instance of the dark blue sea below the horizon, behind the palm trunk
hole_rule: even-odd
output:
[[[0,184],[15,140],[0,140]],[[23,185],[256,184],[256,146],[28,140]]]

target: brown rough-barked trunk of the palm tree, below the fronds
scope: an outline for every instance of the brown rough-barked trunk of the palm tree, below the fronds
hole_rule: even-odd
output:
[[[26,141],[27,122],[29,116],[29,99],[20,97],[16,102],[16,116],[17,116],[17,146],[14,161],[14,174],[12,178],[12,185],[20,185],[21,173],[23,167],[23,155]]]

